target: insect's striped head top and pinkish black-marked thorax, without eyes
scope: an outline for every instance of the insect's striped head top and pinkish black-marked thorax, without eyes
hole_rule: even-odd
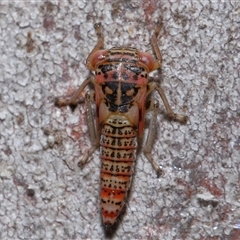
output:
[[[146,88],[148,78],[148,71],[139,63],[138,51],[134,48],[110,49],[97,65],[95,74],[96,84],[101,86],[111,112],[127,112]]]

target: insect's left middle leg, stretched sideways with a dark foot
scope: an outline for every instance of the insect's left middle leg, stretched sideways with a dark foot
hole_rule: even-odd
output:
[[[79,89],[71,97],[60,97],[55,99],[55,105],[57,107],[72,106],[75,107],[79,103],[83,103],[84,100],[81,98],[83,89],[94,80],[93,76],[88,77],[84,80]]]

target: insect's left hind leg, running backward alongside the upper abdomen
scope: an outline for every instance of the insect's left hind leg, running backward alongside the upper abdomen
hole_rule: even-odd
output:
[[[96,150],[96,148],[99,145],[99,136],[97,134],[96,130],[96,124],[95,124],[95,119],[94,119],[94,114],[93,114],[93,109],[92,109],[92,102],[93,102],[93,95],[94,92],[91,91],[90,93],[85,94],[85,104],[87,108],[87,123],[88,123],[88,130],[89,130],[89,135],[90,135],[90,140],[91,140],[91,148],[88,150],[87,153],[84,154],[83,158],[80,160],[78,163],[79,167],[82,167],[89,157],[93,154],[93,152]]]

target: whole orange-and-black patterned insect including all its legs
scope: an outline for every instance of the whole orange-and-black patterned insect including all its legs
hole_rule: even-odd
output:
[[[159,104],[148,99],[150,94],[154,90],[158,92],[171,119],[185,123],[187,116],[173,112],[158,81],[148,77],[150,72],[160,68],[162,64],[161,52],[157,45],[157,36],[162,26],[160,22],[151,37],[156,59],[147,52],[131,47],[104,49],[101,23],[94,26],[98,42],[87,57],[86,66],[95,75],[85,79],[70,98],[57,98],[55,103],[59,107],[74,107],[82,102],[81,94],[85,87],[94,86],[94,90],[85,95],[92,146],[84,154],[79,165],[84,165],[100,145],[101,213],[105,230],[108,231],[116,222],[131,185],[137,139],[143,136],[146,108],[152,109],[152,118],[143,153],[157,176],[162,174],[151,154]],[[96,114],[92,111],[93,102]]]

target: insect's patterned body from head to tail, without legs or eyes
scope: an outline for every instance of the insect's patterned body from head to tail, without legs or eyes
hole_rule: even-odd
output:
[[[95,101],[100,123],[101,211],[106,227],[123,208],[136,160],[139,104],[145,104],[147,67],[135,48],[111,48],[95,66]]]

